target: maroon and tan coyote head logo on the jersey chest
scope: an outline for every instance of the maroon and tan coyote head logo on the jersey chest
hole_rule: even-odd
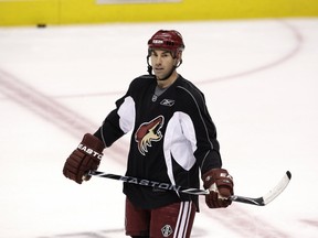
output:
[[[160,141],[162,139],[160,129],[162,128],[163,122],[165,118],[158,116],[149,122],[141,123],[136,131],[135,141],[137,142],[138,150],[142,155],[146,155],[152,141]]]

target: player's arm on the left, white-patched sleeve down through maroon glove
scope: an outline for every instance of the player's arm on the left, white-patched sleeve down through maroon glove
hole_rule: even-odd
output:
[[[94,134],[85,134],[80,145],[67,158],[63,174],[81,184],[89,180],[88,171],[97,170],[103,156],[103,150],[134,127],[135,105],[129,96],[116,101],[114,109]]]

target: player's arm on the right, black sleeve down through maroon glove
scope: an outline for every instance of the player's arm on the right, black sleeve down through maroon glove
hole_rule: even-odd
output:
[[[187,101],[184,111],[191,118],[187,128],[188,130],[193,128],[195,140],[191,137],[193,133],[184,130],[184,134],[192,143],[192,148],[195,148],[193,154],[201,169],[203,186],[210,191],[210,194],[205,195],[206,205],[210,208],[227,207],[231,204],[230,196],[233,195],[233,178],[226,170],[221,169],[222,160],[216,129],[206,109],[203,95],[194,91]]]

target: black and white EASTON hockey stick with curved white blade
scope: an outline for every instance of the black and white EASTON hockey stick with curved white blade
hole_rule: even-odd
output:
[[[158,190],[167,190],[167,191],[174,191],[179,193],[187,193],[191,195],[205,195],[210,193],[209,190],[186,188],[186,187],[181,187],[181,186],[173,185],[170,183],[155,182],[155,181],[138,178],[138,177],[132,177],[132,176],[121,176],[121,175],[109,174],[109,173],[104,173],[99,171],[89,171],[88,175],[123,181],[125,183],[130,183],[130,184],[136,184],[136,185],[141,185],[141,186],[149,186],[149,187],[153,187]],[[271,203],[273,199],[275,199],[285,190],[290,178],[292,178],[292,173],[287,171],[284,174],[283,178],[279,181],[279,183],[264,196],[253,198],[253,197],[232,195],[230,199],[232,199],[233,202],[239,202],[239,203],[252,204],[256,206],[265,206],[268,203]]]

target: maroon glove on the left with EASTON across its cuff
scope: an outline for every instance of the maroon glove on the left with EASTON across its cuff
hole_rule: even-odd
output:
[[[105,145],[98,138],[86,133],[76,150],[67,158],[63,174],[78,184],[84,180],[88,181],[91,176],[87,173],[97,170],[104,149]]]

